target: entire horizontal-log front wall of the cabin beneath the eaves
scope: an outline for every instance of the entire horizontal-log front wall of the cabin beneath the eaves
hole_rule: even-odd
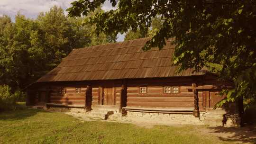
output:
[[[111,81],[92,81],[92,105],[106,105],[102,102],[102,90],[104,87],[113,90],[113,105],[120,106],[121,85],[127,85],[127,97],[125,98],[128,107],[152,107],[152,108],[192,108],[194,107],[194,94],[191,90],[192,83],[196,83],[197,88],[211,88],[223,85],[214,76],[198,77],[175,77],[162,79],[128,79]],[[51,85],[49,87],[49,101],[56,104],[84,105],[85,104],[85,83],[74,85],[72,82],[65,82],[64,85]],[[179,93],[164,93],[164,87],[179,87]],[[145,94],[140,93],[140,87],[146,87]],[[61,88],[65,88],[65,93],[59,93]],[[81,88],[80,93],[75,93],[75,88]],[[43,90],[44,89],[44,90]],[[36,104],[44,102],[46,99],[45,88],[38,88],[41,97],[36,99]],[[199,110],[213,107],[219,100],[223,99],[218,95],[218,89],[198,90]],[[210,101],[211,100],[211,101]],[[46,102],[46,101],[45,101]]]

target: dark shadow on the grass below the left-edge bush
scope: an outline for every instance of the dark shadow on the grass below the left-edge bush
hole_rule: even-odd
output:
[[[8,111],[0,112],[0,120],[12,121],[12,120],[25,119],[27,117],[32,117],[36,115],[38,112],[48,113],[48,111],[39,110],[39,109],[30,109],[30,108],[8,110]]]

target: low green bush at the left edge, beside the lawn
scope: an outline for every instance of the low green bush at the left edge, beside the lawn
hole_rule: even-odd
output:
[[[16,108],[17,94],[13,94],[8,85],[0,86],[0,111]]]

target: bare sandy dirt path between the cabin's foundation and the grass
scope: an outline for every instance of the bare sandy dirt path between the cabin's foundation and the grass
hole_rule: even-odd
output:
[[[84,113],[66,112],[66,114],[72,115],[80,119],[81,121],[97,121],[86,116]],[[102,120],[103,121],[103,120]],[[145,120],[140,118],[130,119],[118,119],[118,120],[104,120],[106,122],[119,122],[129,123],[144,128],[153,128],[155,125],[165,126],[184,126],[179,123],[168,123],[166,121],[153,121]],[[193,126],[194,133],[200,132],[203,135],[214,135],[223,142],[233,142],[234,144],[256,144],[256,126],[245,126],[245,127],[223,127],[223,126]]]

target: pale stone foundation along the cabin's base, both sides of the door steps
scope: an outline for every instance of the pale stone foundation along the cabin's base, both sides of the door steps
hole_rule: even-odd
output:
[[[67,107],[49,107],[50,111],[81,113],[86,116],[84,108],[67,108]],[[121,114],[113,111],[108,116],[112,121],[145,121],[158,124],[176,124],[176,125],[208,125],[208,126],[239,126],[240,118],[236,113],[227,113],[226,110],[216,109],[200,112],[200,117],[194,117],[192,114],[166,114],[166,113],[149,113],[127,111]]]

